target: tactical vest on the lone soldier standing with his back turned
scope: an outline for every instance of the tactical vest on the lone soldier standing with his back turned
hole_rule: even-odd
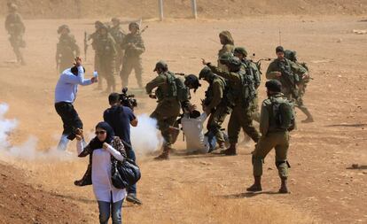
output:
[[[281,96],[269,97],[269,103],[269,131],[292,131],[295,127],[293,104]]]

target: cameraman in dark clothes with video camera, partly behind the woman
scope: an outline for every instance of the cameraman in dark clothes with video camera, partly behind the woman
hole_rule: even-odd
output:
[[[110,108],[104,112],[104,120],[111,127],[116,136],[119,136],[121,142],[125,146],[127,157],[136,161],[135,151],[131,146],[130,141],[130,125],[137,127],[137,117],[135,116],[133,109],[137,106],[137,100],[133,95],[127,95],[128,89],[122,89],[122,94],[112,93],[108,96],[108,102],[111,105]],[[90,159],[91,162],[91,159]],[[77,186],[84,186],[90,184],[90,168],[88,166],[87,172],[84,174],[82,180],[74,182]],[[142,202],[137,198],[137,185],[129,186],[127,201],[141,205]]]

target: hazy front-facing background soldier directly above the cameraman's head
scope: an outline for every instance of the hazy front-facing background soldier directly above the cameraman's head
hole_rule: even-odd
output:
[[[115,72],[115,58],[117,54],[116,44],[112,35],[109,34],[108,28],[102,26],[99,28],[99,37],[96,45],[96,54],[98,58],[98,73],[107,81],[106,93],[114,92],[116,83],[113,73]],[[101,80],[102,81],[102,80]]]

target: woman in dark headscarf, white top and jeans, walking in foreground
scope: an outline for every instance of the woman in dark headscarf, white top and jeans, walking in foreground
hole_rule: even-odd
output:
[[[84,145],[82,130],[76,135],[76,149],[79,157],[92,157],[91,180],[93,192],[98,201],[99,223],[108,223],[111,215],[113,224],[121,223],[121,207],[126,189],[116,189],[111,182],[111,164],[114,159],[122,161],[126,152],[113,128],[106,122],[96,126],[96,137]]]

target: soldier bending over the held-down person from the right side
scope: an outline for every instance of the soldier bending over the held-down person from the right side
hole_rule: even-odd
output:
[[[203,108],[207,115],[207,130],[215,135],[220,149],[225,150],[225,140],[223,136],[222,124],[227,114],[230,114],[230,104],[227,100],[227,87],[224,79],[215,75],[210,68],[204,67],[199,73],[199,79],[209,83],[203,100]]]

